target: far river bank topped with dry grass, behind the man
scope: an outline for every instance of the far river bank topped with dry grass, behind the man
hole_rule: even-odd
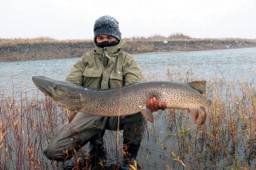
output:
[[[128,53],[194,51],[256,47],[256,40],[239,38],[124,38]],[[91,40],[54,40],[51,38],[0,39],[0,61],[40,60],[81,57],[94,49]]]

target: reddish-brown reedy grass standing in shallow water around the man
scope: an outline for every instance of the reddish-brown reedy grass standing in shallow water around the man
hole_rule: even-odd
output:
[[[154,80],[154,75],[146,79]],[[167,81],[198,81],[192,70],[168,70]],[[104,136],[107,164],[91,160],[86,145],[64,163],[47,160],[42,150],[68,112],[42,93],[19,97],[0,91],[0,169],[118,169],[122,162],[122,132]],[[251,169],[256,161],[255,83],[225,81],[212,77],[207,96],[212,101],[206,124],[194,125],[186,110],[166,109],[154,113],[138,154],[142,169]],[[119,136],[119,144],[116,144]],[[83,164],[83,160],[89,160]],[[92,165],[93,164],[93,165]],[[69,168],[70,167],[70,168]],[[98,168],[94,168],[98,167]]]

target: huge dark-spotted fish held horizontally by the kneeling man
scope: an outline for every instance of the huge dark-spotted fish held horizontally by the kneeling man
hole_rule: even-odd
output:
[[[58,104],[71,111],[81,111],[103,117],[117,117],[141,112],[146,120],[154,117],[146,102],[152,97],[158,105],[169,109],[188,109],[194,121],[200,125],[206,121],[210,101],[202,95],[206,92],[206,81],[178,83],[172,81],[146,81],[119,89],[86,89],[65,81],[34,76],[34,85]],[[203,109],[202,112],[194,110]],[[200,114],[199,114],[200,113]]]

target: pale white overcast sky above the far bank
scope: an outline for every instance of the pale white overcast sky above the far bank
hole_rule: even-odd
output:
[[[0,0],[0,38],[89,39],[102,15],[122,38],[256,38],[256,0]]]

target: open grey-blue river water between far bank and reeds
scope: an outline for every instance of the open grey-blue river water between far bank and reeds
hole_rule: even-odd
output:
[[[256,48],[222,49],[193,52],[141,53],[134,54],[146,77],[154,74],[155,79],[164,79],[167,68],[176,72],[193,72],[194,77],[210,80],[217,76],[227,80],[256,77]],[[16,95],[26,88],[28,97],[38,90],[32,76],[44,75],[65,81],[67,73],[78,58],[38,61],[0,62],[0,92],[14,91]]]

